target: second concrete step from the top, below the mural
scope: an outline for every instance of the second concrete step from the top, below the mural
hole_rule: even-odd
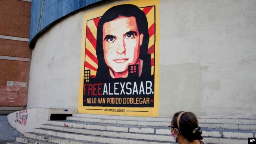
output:
[[[48,121],[48,125],[43,125],[46,129],[59,130],[56,126],[76,127],[82,129],[94,129],[100,131],[117,131],[117,132],[130,132],[139,134],[156,134],[156,135],[170,135],[170,130],[167,126],[133,126],[133,125],[120,125],[120,124],[106,124],[94,122],[80,122],[72,120],[62,121]],[[217,138],[248,138],[254,137],[256,131],[252,130],[239,130],[239,129],[214,129],[202,127],[203,137],[217,137]],[[139,136],[142,137],[142,136]]]

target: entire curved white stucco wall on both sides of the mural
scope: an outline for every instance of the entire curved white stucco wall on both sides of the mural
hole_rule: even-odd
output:
[[[124,2],[124,1],[122,1]],[[83,14],[36,42],[28,108],[77,108]],[[159,116],[256,118],[256,1],[160,0]]]

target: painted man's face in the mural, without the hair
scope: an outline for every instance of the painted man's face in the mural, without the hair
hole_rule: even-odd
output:
[[[103,25],[104,59],[115,74],[128,74],[128,65],[139,63],[139,34],[135,17],[118,17]],[[121,76],[124,78],[123,76]]]

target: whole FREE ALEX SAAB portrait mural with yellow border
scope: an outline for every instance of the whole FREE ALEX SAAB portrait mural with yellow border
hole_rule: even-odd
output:
[[[145,2],[84,15],[78,113],[158,116],[159,2]]]

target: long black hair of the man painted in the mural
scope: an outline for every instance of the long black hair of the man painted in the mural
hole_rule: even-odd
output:
[[[143,33],[143,41],[139,47],[139,59],[143,60],[143,68],[140,78],[147,78],[151,76],[151,56],[148,54],[148,22],[147,17],[139,7],[132,4],[123,4],[111,7],[100,18],[97,27],[97,39],[96,39],[96,55],[98,58],[98,70],[96,73],[96,79],[113,79],[109,74],[109,67],[104,60],[104,51],[102,44],[103,25],[106,22],[112,21],[120,16],[135,17],[137,28],[139,33]],[[129,77],[129,76],[128,76]]]

